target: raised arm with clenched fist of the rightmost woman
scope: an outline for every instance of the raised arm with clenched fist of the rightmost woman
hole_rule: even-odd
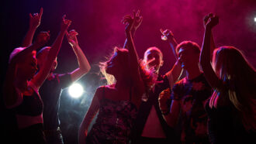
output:
[[[216,26],[219,22],[219,18],[216,15],[212,15],[209,17],[208,22],[206,22],[206,30],[202,43],[202,50],[200,54],[200,64],[203,70],[203,73],[206,77],[206,80],[210,84],[211,87],[216,88],[220,87],[221,81],[216,76],[213,67],[210,63],[210,41],[211,41],[211,33],[214,26]]]

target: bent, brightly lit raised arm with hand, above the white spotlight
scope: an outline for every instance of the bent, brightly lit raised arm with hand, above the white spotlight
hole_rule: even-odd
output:
[[[71,72],[71,81],[77,81],[80,77],[88,73],[91,69],[90,64],[88,63],[87,58],[85,57],[85,53],[81,50],[78,39],[78,33],[73,29],[69,33],[66,33],[67,41],[71,45],[74,50],[75,56],[78,59],[79,67]]]

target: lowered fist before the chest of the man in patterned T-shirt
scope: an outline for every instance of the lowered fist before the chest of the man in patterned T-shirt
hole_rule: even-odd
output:
[[[162,91],[159,94],[159,98],[158,98],[158,102],[159,102],[159,108],[161,109],[163,114],[167,114],[168,113],[168,102],[171,103],[171,91],[170,88]]]

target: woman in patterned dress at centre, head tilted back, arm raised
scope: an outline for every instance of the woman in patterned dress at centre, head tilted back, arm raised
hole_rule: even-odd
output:
[[[135,18],[134,13],[134,18]],[[79,129],[79,143],[129,143],[130,132],[140,106],[141,95],[145,91],[144,81],[140,76],[131,29],[133,19],[124,19],[126,23],[127,49],[115,48],[106,62],[106,73],[112,74],[114,84],[98,87],[92,104],[88,109]],[[99,115],[90,132],[88,127]]]

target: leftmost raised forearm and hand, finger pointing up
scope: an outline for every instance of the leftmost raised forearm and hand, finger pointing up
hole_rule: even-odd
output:
[[[31,45],[36,29],[38,28],[38,26],[40,26],[42,15],[43,15],[43,8],[40,9],[39,14],[34,13],[33,15],[31,15],[31,13],[29,13],[29,30],[22,41],[23,47],[27,47]]]

